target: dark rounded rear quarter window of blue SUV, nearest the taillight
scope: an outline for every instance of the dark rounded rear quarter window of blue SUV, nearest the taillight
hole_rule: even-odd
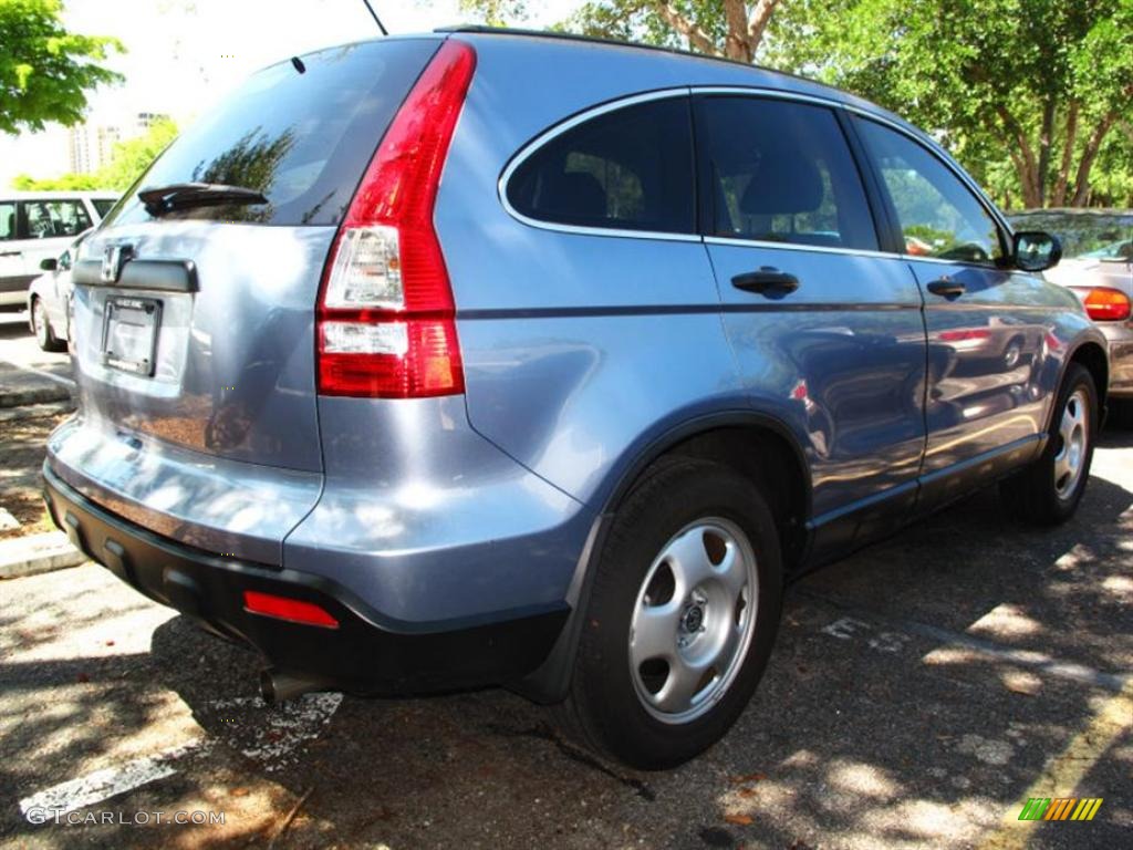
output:
[[[520,163],[506,193],[538,221],[695,232],[688,99],[624,107],[565,130]]]

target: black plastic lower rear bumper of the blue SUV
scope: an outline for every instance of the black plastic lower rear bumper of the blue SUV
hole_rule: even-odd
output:
[[[92,560],[150,598],[252,645],[280,670],[331,687],[407,694],[512,682],[547,656],[569,613],[563,603],[506,620],[391,623],[329,578],[176,543],[100,508],[48,465],[43,476],[52,518]],[[245,590],[314,603],[339,624],[250,613]]]

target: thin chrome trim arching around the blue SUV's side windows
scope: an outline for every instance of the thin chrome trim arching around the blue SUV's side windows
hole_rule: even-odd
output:
[[[887,116],[872,112],[863,107],[859,107],[853,103],[846,103],[845,101],[840,101],[834,97],[824,97],[821,95],[806,94],[802,92],[792,92],[783,88],[768,88],[766,86],[738,86],[738,85],[695,85],[695,86],[675,86],[668,88],[658,88],[651,92],[642,92],[639,94],[631,94],[624,97],[616,97],[612,101],[606,101],[605,103],[598,104],[597,107],[591,107],[590,109],[585,109],[570,118],[560,121],[559,124],[552,126],[551,128],[544,130],[543,133],[535,136],[533,139],[527,142],[522,147],[519,148],[504,170],[501,172],[499,180],[496,180],[496,195],[500,198],[500,203],[503,209],[519,222],[527,224],[528,227],[538,228],[539,230],[550,230],[560,233],[573,233],[577,236],[605,236],[615,238],[628,238],[628,239],[649,239],[649,240],[662,240],[662,241],[679,241],[679,243],[704,243],[705,245],[734,245],[734,246],[751,246],[758,248],[778,248],[783,250],[812,250],[823,254],[845,254],[849,256],[867,256],[867,257],[888,257],[888,258],[901,258],[908,260],[910,262],[919,263],[938,263],[944,265],[963,265],[971,266],[973,269],[982,270],[997,270],[997,271],[1016,271],[1013,269],[998,269],[994,265],[988,265],[983,263],[971,263],[966,261],[957,260],[944,260],[940,257],[922,257],[914,254],[908,253],[893,253],[887,250],[869,250],[862,248],[832,248],[828,246],[820,245],[794,245],[789,243],[775,243],[760,239],[744,239],[742,237],[724,237],[724,236],[704,236],[700,233],[676,233],[666,231],[653,231],[653,230],[625,230],[615,228],[599,228],[599,227],[582,227],[578,224],[563,224],[552,221],[542,221],[539,219],[533,219],[523,213],[519,212],[511,202],[508,199],[508,182],[511,180],[512,175],[516,170],[523,164],[533,154],[535,154],[540,147],[543,147],[548,142],[561,136],[580,124],[585,124],[593,118],[606,114],[607,112],[614,112],[619,109],[624,109],[628,107],[633,107],[639,103],[649,103],[651,101],[667,100],[672,97],[690,97],[697,94],[734,94],[750,97],[772,97],[777,100],[796,101],[800,103],[810,103],[819,107],[826,107],[827,109],[841,109],[847,112],[853,112],[862,118],[866,118],[877,124],[884,125],[901,135],[909,138],[914,144],[920,145],[928,150],[929,154],[938,159],[944,167],[956,177],[973,195],[976,195],[977,202],[981,207],[991,216],[1007,237],[1012,237],[1014,231],[1007,223],[1006,219],[999,213],[995,204],[987,197],[983,190],[976,184],[971,177],[948,155],[948,153],[937,145],[931,139],[922,138],[919,131],[911,129],[910,127],[903,126],[900,121],[895,121]],[[926,142],[928,142],[926,144]],[[851,155],[853,152],[851,151]]]

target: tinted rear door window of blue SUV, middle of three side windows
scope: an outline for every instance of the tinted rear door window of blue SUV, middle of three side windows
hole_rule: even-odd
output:
[[[695,104],[707,235],[878,248],[861,176],[829,109],[742,95]]]

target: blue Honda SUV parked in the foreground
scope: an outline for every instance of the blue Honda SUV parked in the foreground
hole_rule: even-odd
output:
[[[786,577],[997,481],[1074,512],[1107,362],[1057,254],[794,77],[475,28],[315,52],[83,244],[48,500],[267,699],[505,685],[665,767],[743,711]]]

